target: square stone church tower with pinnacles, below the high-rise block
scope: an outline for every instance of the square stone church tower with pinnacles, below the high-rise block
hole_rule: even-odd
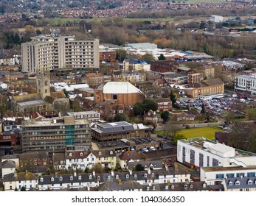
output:
[[[36,90],[41,94],[42,99],[46,96],[50,96],[48,68],[38,68],[36,70]]]

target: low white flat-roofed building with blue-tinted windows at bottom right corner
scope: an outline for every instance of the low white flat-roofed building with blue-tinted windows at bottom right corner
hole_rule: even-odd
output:
[[[256,168],[243,167],[217,167],[217,168],[201,168],[200,180],[207,182],[207,185],[220,184],[225,178],[232,177],[255,177]]]

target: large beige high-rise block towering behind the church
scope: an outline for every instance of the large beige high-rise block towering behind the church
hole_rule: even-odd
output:
[[[23,72],[36,72],[37,68],[99,68],[99,40],[75,40],[72,35],[60,35],[52,29],[51,35],[32,37],[21,43]]]

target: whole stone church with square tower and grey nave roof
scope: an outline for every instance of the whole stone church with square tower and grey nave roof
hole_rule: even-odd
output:
[[[69,99],[63,91],[50,92],[49,69],[37,69],[36,88],[37,93],[13,96],[12,110],[27,113],[69,110]]]

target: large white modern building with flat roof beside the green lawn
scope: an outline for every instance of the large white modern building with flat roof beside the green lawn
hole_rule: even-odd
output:
[[[196,168],[256,166],[256,154],[241,153],[238,149],[205,138],[178,141],[177,160]]]

